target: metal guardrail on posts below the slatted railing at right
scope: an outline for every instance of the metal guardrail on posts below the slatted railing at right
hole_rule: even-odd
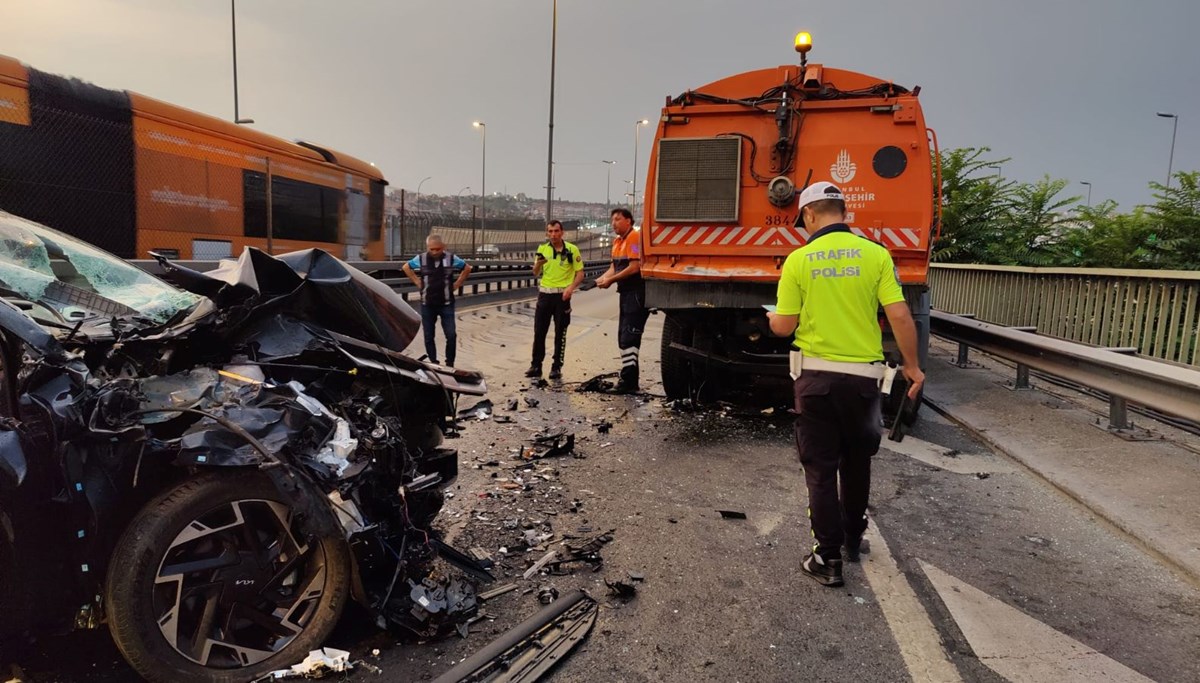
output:
[[[1126,402],[1200,421],[1200,371],[1130,355],[1136,349],[1097,348],[1042,336],[1033,328],[1006,328],[934,311],[931,331],[959,343],[959,365],[966,348],[977,348],[1018,364],[1018,388],[1028,385],[1030,369],[1061,377],[1109,395],[1109,429],[1128,429]]]

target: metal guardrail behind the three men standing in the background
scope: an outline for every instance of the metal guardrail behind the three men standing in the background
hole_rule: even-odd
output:
[[[142,270],[154,275],[162,275],[162,269],[156,260],[131,260]],[[176,260],[184,268],[208,271],[217,266],[217,260]],[[404,275],[403,260],[350,260],[347,262],[354,268],[371,275],[384,284],[391,287],[396,293],[408,299],[409,294],[416,293],[416,287]],[[456,293],[457,296],[498,295],[502,292],[526,294],[538,286],[533,275],[533,266],[527,260],[468,260],[472,271],[467,282]],[[608,263],[586,265],[583,271],[586,277],[595,277],[607,270]]]

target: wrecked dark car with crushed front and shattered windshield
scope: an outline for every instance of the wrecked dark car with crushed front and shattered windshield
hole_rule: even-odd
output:
[[[431,523],[482,377],[401,353],[416,313],[323,251],[161,265],[0,212],[0,642],[107,624],[149,679],[252,681],[352,597],[469,611]]]

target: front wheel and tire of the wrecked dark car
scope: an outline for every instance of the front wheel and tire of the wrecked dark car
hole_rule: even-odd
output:
[[[138,673],[254,681],[322,647],[348,599],[349,551],[331,514],[312,517],[328,508],[305,516],[286,501],[260,472],[209,472],[133,519],[113,553],[104,604],[113,640]]]

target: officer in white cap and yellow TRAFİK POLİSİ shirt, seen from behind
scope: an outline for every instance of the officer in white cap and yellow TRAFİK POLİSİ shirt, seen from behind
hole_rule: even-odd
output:
[[[784,262],[778,304],[767,317],[775,335],[794,332],[796,447],[816,539],[800,567],[824,586],[841,586],[842,545],[851,562],[863,551],[871,456],[880,449],[886,373],[880,306],[904,357],[901,371],[913,400],[925,375],[917,326],[888,250],[850,230],[845,197],[832,182],[806,187],[799,209],[811,236]]]

